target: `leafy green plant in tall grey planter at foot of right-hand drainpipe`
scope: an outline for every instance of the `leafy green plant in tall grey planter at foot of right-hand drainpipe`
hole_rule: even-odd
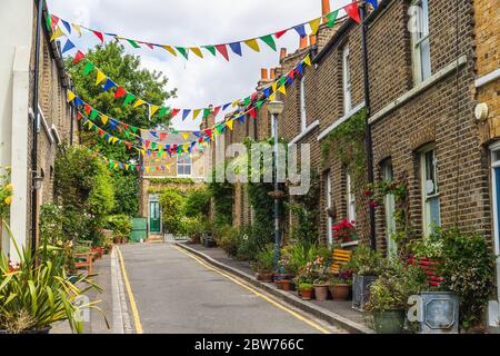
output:
[[[352,271],[352,308],[363,312],[370,295],[370,286],[380,273],[382,256],[361,244],[352,253],[344,268]]]

